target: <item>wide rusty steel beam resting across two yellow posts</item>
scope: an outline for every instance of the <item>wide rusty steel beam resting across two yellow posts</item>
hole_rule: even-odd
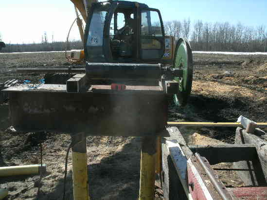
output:
[[[130,88],[120,92],[110,86],[93,87],[73,94],[66,92],[66,85],[44,84],[35,90],[22,85],[5,92],[9,93],[12,126],[17,132],[164,135],[166,95],[154,86]]]

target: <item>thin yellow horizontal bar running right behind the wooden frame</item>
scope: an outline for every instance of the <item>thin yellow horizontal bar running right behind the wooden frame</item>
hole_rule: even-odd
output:
[[[242,127],[239,122],[172,122],[168,121],[169,126],[196,126],[196,127]],[[267,127],[267,122],[257,122],[259,127]]]

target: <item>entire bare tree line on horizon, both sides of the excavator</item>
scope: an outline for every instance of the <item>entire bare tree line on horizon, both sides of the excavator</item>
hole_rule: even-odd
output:
[[[194,24],[190,18],[164,22],[166,35],[176,39],[186,37],[190,40],[192,50],[204,51],[267,51],[267,27],[265,25],[245,26],[241,23],[229,22],[207,23],[197,20]],[[0,40],[1,40],[0,34]],[[33,44],[6,44],[1,52],[23,51],[61,51],[70,49],[83,49],[80,40],[66,42],[49,42],[47,33],[41,37],[41,43]]]

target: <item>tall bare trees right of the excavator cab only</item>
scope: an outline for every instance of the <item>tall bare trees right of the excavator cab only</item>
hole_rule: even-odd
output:
[[[186,37],[193,50],[204,51],[267,51],[267,29],[265,25],[256,28],[229,22],[203,23],[190,19],[164,22],[165,33],[176,39]]]

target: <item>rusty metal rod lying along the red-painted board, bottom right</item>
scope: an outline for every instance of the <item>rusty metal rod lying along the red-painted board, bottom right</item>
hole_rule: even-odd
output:
[[[204,171],[206,172],[206,174],[208,175],[208,177],[210,178],[211,182],[214,185],[214,188],[217,190],[217,192],[219,193],[219,195],[221,196],[221,198],[223,200],[231,200],[231,196],[230,194],[227,192],[225,186],[218,182],[218,180],[215,178],[214,176],[214,172],[211,171],[203,162],[202,158],[200,157],[200,155],[198,153],[195,153],[196,159],[198,160],[199,164],[201,165],[201,167],[204,169]]]

